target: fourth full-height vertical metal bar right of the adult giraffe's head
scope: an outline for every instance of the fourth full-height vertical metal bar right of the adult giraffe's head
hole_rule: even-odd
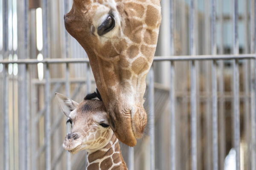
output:
[[[233,53],[239,54],[238,42],[238,0],[233,0]],[[233,94],[234,94],[234,136],[236,149],[236,170],[240,170],[240,116],[239,116],[239,64],[233,62]]]

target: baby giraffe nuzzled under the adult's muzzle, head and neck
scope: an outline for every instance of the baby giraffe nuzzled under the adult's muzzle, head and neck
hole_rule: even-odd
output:
[[[87,150],[87,170],[127,170],[99,92],[88,94],[79,104],[62,94],[55,96],[72,127],[63,142],[64,149],[73,154]]]

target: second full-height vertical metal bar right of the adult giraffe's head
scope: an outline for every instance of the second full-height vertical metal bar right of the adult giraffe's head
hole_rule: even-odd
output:
[[[189,6],[189,51],[190,55],[195,55],[194,45],[194,0],[190,0]],[[196,113],[196,70],[195,61],[190,62],[190,105],[191,105],[191,156],[192,170],[197,170],[197,113]]]

